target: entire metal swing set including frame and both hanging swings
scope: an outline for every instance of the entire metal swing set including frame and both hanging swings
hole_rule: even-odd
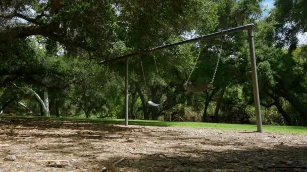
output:
[[[215,32],[215,33],[211,33],[208,35],[203,35],[203,36],[199,36],[196,38],[192,38],[192,39],[187,39],[184,41],[179,41],[179,42],[175,42],[172,44],[167,44],[167,45],[163,45],[163,46],[159,46],[159,47],[155,47],[155,48],[150,48],[147,50],[142,50],[136,53],[132,53],[132,54],[127,54],[124,56],[120,56],[117,58],[113,58],[113,59],[109,59],[109,60],[105,60],[105,61],[100,61],[100,64],[106,64],[109,62],[113,62],[116,60],[120,60],[120,59],[125,59],[126,60],[126,78],[125,78],[125,95],[126,95],[126,99],[125,99],[125,125],[128,125],[128,61],[129,61],[129,57],[133,57],[133,56],[139,56],[145,53],[149,53],[149,52],[154,52],[154,51],[158,51],[161,49],[166,49],[166,48],[170,48],[170,47],[174,47],[177,45],[182,45],[182,44],[186,44],[186,43],[190,43],[190,42],[196,42],[199,40],[208,40],[208,39],[212,39],[212,38],[216,38],[216,37],[221,37],[221,36],[225,36],[228,35],[230,33],[235,33],[235,32],[241,32],[243,30],[247,30],[248,31],[248,41],[249,41],[249,52],[250,52],[250,64],[251,64],[251,76],[252,76],[252,86],[253,86],[253,98],[254,98],[254,106],[255,106],[255,115],[256,115],[256,121],[257,121],[257,132],[261,132],[262,133],[262,120],[261,120],[261,111],[260,111],[260,98],[259,98],[259,89],[258,89],[258,79],[257,79],[257,66],[256,66],[256,59],[255,59],[255,51],[254,51],[254,41],[253,41],[253,29],[254,29],[254,25],[253,24],[248,24],[248,25],[244,25],[244,26],[239,26],[236,28],[231,28],[231,29],[227,29],[227,30],[223,30],[220,32]],[[192,73],[195,70],[198,58],[200,56],[200,50],[199,53],[197,55],[197,58],[194,62],[193,68],[188,76],[188,79],[185,81],[183,87],[186,91],[188,92],[192,92],[192,93],[197,93],[197,92],[202,92],[202,91],[206,91],[208,89],[211,89],[213,87],[213,82],[215,79],[215,75],[217,73],[217,69],[218,69],[218,65],[219,65],[219,61],[220,61],[220,57],[221,57],[221,49],[219,49],[218,52],[218,59],[217,59],[217,63],[216,63],[216,67],[215,67],[215,71],[213,74],[213,77],[211,79],[211,82],[208,83],[202,83],[199,85],[192,85],[189,84],[189,80],[190,77],[192,75]],[[154,57],[155,60],[155,65],[156,65],[156,70],[157,70],[157,74],[159,75],[159,71],[158,71],[158,67],[157,67],[157,62],[156,62],[156,58]],[[144,74],[144,70],[143,70],[143,64],[142,61],[140,60],[141,63],[141,68],[142,68],[142,73],[143,73],[143,79],[145,82],[145,87],[148,91],[147,85],[146,85],[146,81],[145,81],[145,74]],[[152,102],[151,100],[148,101],[148,104],[151,106],[159,106],[159,104],[156,104],[154,102]]]

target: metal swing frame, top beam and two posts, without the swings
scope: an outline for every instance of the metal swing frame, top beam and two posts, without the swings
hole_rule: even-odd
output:
[[[154,51],[158,51],[161,49],[165,49],[165,48],[170,48],[170,47],[174,47],[177,45],[182,45],[182,44],[186,44],[186,43],[190,43],[190,42],[196,42],[199,40],[207,40],[207,39],[212,39],[212,38],[216,38],[216,37],[220,37],[220,36],[225,36],[231,33],[235,33],[235,32],[241,32],[243,30],[247,30],[248,31],[248,41],[249,41],[249,52],[250,52],[250,67],[251,67],[251,78],[252,78],[252,88],[253,88],[253,99],[254,99],[254,106],[255,106],[255,114],[256,114],[256,121],[257,121],[257,132],[262,133],[262,120],[261,120],[261,110],[260,110],[260,97],[259,97],[259,88],[258,88],[258,79],[257,79],[257,66],[256,66],[256,59],[255,59],[255,49],[254,49],[254,40],[253,40],[253,29],[255,28],[255,26],[253,24],[248,24],[248,25],[244,25],[244,26],[240,26],[240,27],[236,27],[236,28],[231,28],[231,29],[227,29],[227,30],[223,30],[220,32],[215,32],[212,34],[208,34],[208,35],[203,35],[203,36],[199,36],[196,38],[192,38],[192,39],[188,39],[188,40],[184,40],[184,41],[179,41],[179,42],[175,42],[172,44],[168,44],[168,45],[163,45],[163,46],[159,46],[159,47],[155,47],[155,48],[150,48],[147,50],[142,50],[142,51],[138,51],[135,53],[131,53],[131,54],[127,54],[124,56],[120,56],[117,58],[113,58],[113,59],[109,59],[109,60],[105,60],[105,61],[100,61],[100,64],[106,64],[109,62],[113,62],[116,60],[120,60],[120,59],[125,59],[126,60],[126,79],[125,79],[125,125],[128,125],[128,63],[129,63],[129,57],[133,57],[133,56],[137,56],[137,55],[142,55],[148,52],[154,52]]]

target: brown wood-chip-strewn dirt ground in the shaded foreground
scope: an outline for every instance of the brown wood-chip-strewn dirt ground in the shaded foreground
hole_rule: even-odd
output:
[[[119,171],[307,171],[307,137],[0,119],[0,171],[102,171],[123,157]]]

